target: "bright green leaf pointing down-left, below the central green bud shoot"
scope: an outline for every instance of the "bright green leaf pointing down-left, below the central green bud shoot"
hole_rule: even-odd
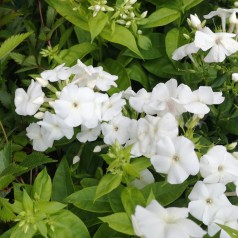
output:
[[[122,174],[106,174],[104,175],[96,190],[96,195],[95,195],[95,201],[102,197],[105,194],[110,193],[113,191],[115,188],[117,188],[122,180]]]

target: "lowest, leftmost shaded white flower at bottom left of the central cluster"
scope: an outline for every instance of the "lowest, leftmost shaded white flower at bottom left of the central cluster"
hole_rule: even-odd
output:
[[[33,149],[45,151],[53,146],[53,139],[49,139],[47,131],[36,123],[31,123],[26,128],[26,135],[32,140]]]

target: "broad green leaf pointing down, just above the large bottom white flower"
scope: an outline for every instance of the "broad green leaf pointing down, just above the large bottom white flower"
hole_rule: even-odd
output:
[[[135,213],[135,207],[137,205],[146,205],[146,201],[142,192],[135,187],[125,188],[121,193],[121,200],[129,217]]]

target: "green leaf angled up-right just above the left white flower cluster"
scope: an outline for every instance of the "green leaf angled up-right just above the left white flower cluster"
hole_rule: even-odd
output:
[[[69,49],[62,50],[55,60],[58,61],[58,59],[60,59],[60,62],[58,63],[65,63],[67,66],[72,66],[77,62],[77,59],[82,59],[94,50],[97,50],[97,46],[95,44],[83,42],[81,44],[74,45]]]

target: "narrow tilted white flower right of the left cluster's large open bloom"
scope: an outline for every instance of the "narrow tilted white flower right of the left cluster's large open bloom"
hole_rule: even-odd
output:
[[[122,92],[114,93],[107,101],[102,103],[101,120],[110,121],[120,115],[124,105],[126,105],[126,100],[122,99]]]

